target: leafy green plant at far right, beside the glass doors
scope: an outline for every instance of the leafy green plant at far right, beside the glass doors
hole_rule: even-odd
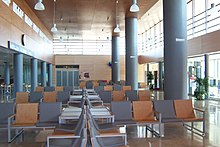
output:
[[[196,83],[196,89],[194,91],[194,96],[197,100],[203,100],[208,96],[208,78],[196,77],[194,81]]]

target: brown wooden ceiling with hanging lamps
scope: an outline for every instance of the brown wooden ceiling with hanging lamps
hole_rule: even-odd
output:
[[[53,26],[54,0],[43,0],[46,10],[36,11],[34,5],[37,0],[25,0],[48,30]],[[125,30],[125,15],[132,0],[118,0],[117,22],[121,29],[121,36]],[[158,0],[138,0],[140,12],[143,16]],[[106,40],[111,38],[116,24],[115,0],[56,0],[56,19],[58,32],[54,38]]]

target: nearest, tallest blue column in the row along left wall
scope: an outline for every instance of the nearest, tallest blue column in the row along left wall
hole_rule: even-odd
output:
[[[14,54],[14,96],[23,91],[23,54]]]

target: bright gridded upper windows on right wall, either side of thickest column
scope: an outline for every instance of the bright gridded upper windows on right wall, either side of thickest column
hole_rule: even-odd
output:
[[[220,29],[219,0],[188,0],[187,39],[192,39]],[[146,55],[152,50],[163,49],[163,21],[139,35],[139,54]]]

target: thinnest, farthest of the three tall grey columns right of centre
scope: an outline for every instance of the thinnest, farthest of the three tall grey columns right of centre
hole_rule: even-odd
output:
[[[120,35],[112,36],[112,82],[120,81]]]

